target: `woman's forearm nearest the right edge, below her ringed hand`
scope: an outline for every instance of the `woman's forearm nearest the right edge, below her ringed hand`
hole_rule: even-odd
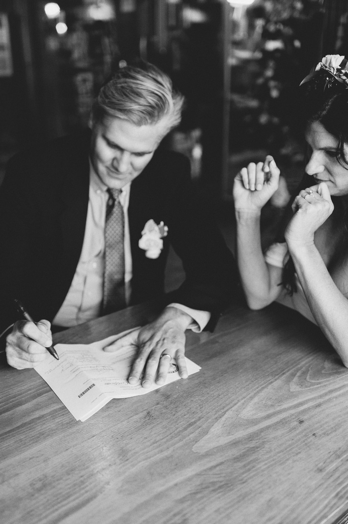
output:
[[[348,367],[348,300],[335,285],[314,244],[289,246],[289,251],[314,318]]]

